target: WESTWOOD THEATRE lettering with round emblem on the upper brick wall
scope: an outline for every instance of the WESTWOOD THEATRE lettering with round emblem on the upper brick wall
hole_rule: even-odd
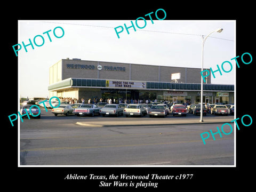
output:
[[[125,67],[114,67],[114,66],[94,66],[94,65],[83,65],[83,64],[67,64],[67,68],[71,69],[98,69],[98,70],[114,70],[114,71],[125,71]]]

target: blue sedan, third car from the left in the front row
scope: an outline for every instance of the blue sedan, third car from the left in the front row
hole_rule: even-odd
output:
[[[95,114],[100,114],[100,109],[101,108],[97,107],[95,104],[82,104],[74,109],[73,114],[76,116],[91,115],[94,117]]]

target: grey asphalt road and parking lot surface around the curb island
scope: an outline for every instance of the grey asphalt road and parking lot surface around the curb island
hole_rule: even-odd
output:
[[[115,123],[127,118],[54,116],[43,109],[41,113],[41,119],[24,119],[23,123],[20,122],[20,165],[234,165],[234,131],[229,135],[222,134],[222,138],[215,134],[216,140],[210,137],[205,140],[206,145],[201,139],[201,133],[210,130],[216,132],[216,127],[221,127],[223,123],[93,127],[76,123]],[[138,122],[152,118],[128,119]],[[154,121],[162,120],[154,118]]]

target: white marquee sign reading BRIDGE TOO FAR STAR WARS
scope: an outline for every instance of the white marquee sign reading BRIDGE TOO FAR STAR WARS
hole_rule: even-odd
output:
[[[106,80],[106,87],[145,89],[146,82]]]

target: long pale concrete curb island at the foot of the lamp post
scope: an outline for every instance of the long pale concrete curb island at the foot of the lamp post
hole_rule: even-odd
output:
[[[77,125],[82,126],[91,126],[91,127],[109,127],[109,126],[147,126],[147,125],[187,125],[187,124],[216,124],[216,123],[230,123],[234,119],[233,116],[226,118],[203,118],[203,123],[199,122],[200,118],[196,119],[172,119],[172,118],[147,118],[139,119],[138,121],[129,121],[127,120],[118,120],[118,121],[98,121],[98,122],[88,122],[88,121],[79,121],[76,122]]]

